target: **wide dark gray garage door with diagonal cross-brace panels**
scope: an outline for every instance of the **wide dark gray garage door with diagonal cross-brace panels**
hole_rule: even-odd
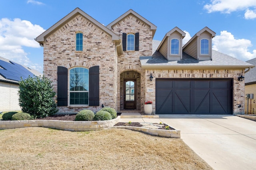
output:
[[[232,79],[156,79],[156,114],[232,114]]]

